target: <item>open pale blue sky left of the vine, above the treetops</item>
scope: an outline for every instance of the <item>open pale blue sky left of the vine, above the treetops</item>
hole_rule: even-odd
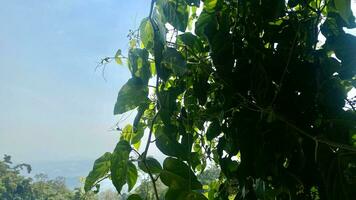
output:
[[[0,7],[0,156],[16,161],[94,159],[108,131],[126,67],[100,58],[127,49],[148,0],[11,0]]]

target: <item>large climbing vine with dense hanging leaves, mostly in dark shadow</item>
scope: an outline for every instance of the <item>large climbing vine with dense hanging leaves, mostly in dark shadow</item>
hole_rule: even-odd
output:
[[[131,191],[140,168],[157,200],[355,199],[350,4],[152,1],[130,32],[128,56],[108,58],[127,60],[132,76],[114,114],[136,109],[136,117],[95,161],[85,190],[110,178],[118,192]],[[147,155],[153,143],[167,156],[163,165]],[[221,173],[202,185],[197,174],[209,163]]]

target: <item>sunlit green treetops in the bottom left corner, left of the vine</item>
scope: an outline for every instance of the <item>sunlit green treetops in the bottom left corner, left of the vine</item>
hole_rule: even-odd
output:
[[[11,157],[5,155],[0,161],[0,199],[1,200],[95,200],[93,193],[86,193],[79,188],[70,190],[64,178],[48,179],[44,174],[34,178],[25,177],[21,170],[31,172],[28,164],[14,165]],[[103,198],[104,199],[104,198]]]

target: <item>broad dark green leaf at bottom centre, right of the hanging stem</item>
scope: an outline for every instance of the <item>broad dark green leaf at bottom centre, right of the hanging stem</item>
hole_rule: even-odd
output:
[[[202,185],[194,172],[182,161],[168,157],[163,162],[161,181],[174,190],[197,190]]]

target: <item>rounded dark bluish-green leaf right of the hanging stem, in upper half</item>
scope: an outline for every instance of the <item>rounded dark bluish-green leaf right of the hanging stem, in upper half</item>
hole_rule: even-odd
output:
[[[167,48],[163,52],[162,63],[178,76],[182,76],[187,72],[187,63],[183,55],[174,48]]]

